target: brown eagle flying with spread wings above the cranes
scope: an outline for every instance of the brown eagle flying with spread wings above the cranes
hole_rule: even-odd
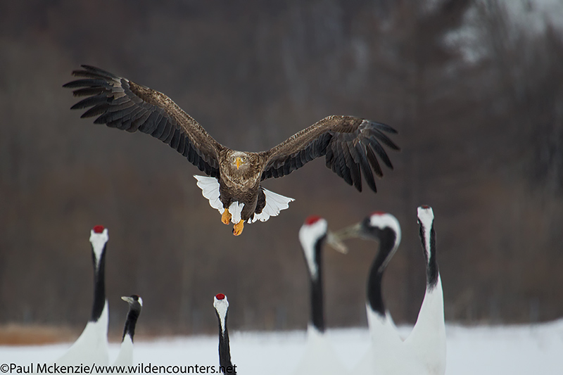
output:
[[[207,174],[194,177],[203,196],[222,214],[222,222],[234,224],[235,236],[242,233],[244,222],[266,221],[293,201],[262,188],[262,180],[283,177],[324,155],[327,167],[358,191],[362,191],[362,174],[367,185],[377,191],[372,170],[383,176],[377,156],[393,169],[381,144],[399,150],[385,134],[397,133],[388,125],[352,116],[329,116],[270,150],[235,151],[215,141],[158,91],[89,65],[82,65],[72,75],[81,78],[63,87],[86,98],[71,109],[91,107],[81,117],[97,116],[96,124],[151,134],[184,155]]]

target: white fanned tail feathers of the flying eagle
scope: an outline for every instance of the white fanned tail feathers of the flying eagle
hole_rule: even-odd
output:
[[[209,200],[209,205],[215,210],[219,210],[222,214],[224,212],[223,204],[221,203],[219,197],[219,182],[215,177],[207,177],[207,176],[197,176],[194,175],[198,180],[198,186],[201,189],[201,193],[205,198]],[[254,215],[252,219],[248,219],[248,222],[255,222],[260,220],[261,222],[265,222],[270,218],[270,216],[277,216],[279,211],[285,210],[289,208],[289,202],[295,201],[293,198],[288,198],[286,196],[281,196],[273,191],[264,190],[264,194],[266,196],[266,206],[262,210],[262,212],[258,215]],[[244,207],[244,203],[233,202],[229,207],[229,212],[231,212],[231,221],[233,224],[238,223],[241,221],[241,212]]]

